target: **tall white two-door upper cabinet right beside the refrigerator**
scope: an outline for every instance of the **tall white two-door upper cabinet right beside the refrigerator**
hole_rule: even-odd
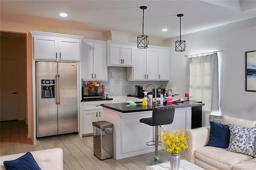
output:
[[[81,76],[84,80],[108,78],[106,42],[82,40]]]

